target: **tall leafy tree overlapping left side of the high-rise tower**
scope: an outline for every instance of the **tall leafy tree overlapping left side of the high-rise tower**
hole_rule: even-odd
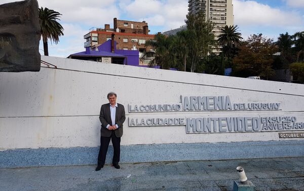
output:
[[[191,63],[191,72],[197,68],[200,60],[207,59],[208,54],[215,47],[216,41],[212,33],[213,24],[210,20],[206,20],[204,12],[197,14],[189,14],[185,20],[189,36],[189,52],[188,60]]]

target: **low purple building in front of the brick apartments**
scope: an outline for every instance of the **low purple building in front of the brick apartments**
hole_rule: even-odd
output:
[[[117,50],[116,41],[113,40],[108,40],[92,50],[87,47],[86,51],[71,54],[67,58],[139,66],[139,51]]]

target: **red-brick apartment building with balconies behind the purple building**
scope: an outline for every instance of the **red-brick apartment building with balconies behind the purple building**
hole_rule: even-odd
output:
[[[91,50],[99,47],[104,42],[111,40],[115,35],[117,50],[138,50],[141,58],[145,52],[150,52],[150,47],[145,47],[148,40],[154,39],[154,34],[149,34],[148,23],[113,19],[113,28],[105,24],[104,28],[93,27],[84,35],[84,47]],[[147,65],[150,59],[140,60],[140,65]]]

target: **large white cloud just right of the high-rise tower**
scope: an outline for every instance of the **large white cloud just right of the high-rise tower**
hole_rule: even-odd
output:
[[[233,4],[235,24],[238,25],[286,27],[302,23],[302,18],[297,12],[282,11],[255,1],[234,0]]]

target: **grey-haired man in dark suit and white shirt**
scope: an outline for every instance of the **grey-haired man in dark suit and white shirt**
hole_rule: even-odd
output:
[[[108,93],[107,99],[109,103],[101,106],[99,115],[101,136],[96,171],[103,168],[110,140],[112,140],[114,148],[112,164],[115,168],[120,169],[118,163],[120,160],[120,141],[123,135],[123,123],[126,120],[125,107],[116,102],[117,94],[114,92]]]

